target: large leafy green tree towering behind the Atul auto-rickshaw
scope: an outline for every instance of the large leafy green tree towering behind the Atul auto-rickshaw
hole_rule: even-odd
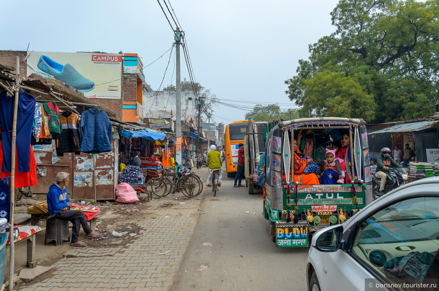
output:
[[[385,122],[439,109],[439,1],[341,0],[331,16],[336,32],[309,45],[285,81],[301,117]]]

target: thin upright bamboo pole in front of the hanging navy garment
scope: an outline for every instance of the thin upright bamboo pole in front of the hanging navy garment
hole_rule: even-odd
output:
[[[14,102],[14,118],[12,122],[12,143],[11,143],[11,180],[10,180],[10,189],[11,189],[11,205],[9,208],[9,223],[11,223],[11,227],[9,228],[9,291],[14,290],[14,265],[15,265],[15,245],[14,245],[14,206],[15,206],[15,146],[16,146],[16,138],[17,138],[17,109],[18,109],[18,92],[19,92],[19,84],[20,84],[20,58],[18,55],[16,56],[16,68],[15,68],[15,102]]]

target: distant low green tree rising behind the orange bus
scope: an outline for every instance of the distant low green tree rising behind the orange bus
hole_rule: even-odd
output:
[[[297,117],[297,109],[281,110],[277,103],[269,105],[256,104],[250,112],[245,114],[245,119],[251,118],[254,121],[288,120]]]

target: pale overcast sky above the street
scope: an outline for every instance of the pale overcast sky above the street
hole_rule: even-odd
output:
[[[308,57],[308,44],[335,31],[330,12],[338,3],[169,1],[185,31],[197,82],[218,99],[290,104],[282,108],[294,107],[285,94],[284,81],[295,75],[298,60]],[[160,3],[168,13],[163,0]],[[174,33],[155,0],[0,0],[0,6],[4,24],[0,49],[26,50],[30,43],[29,50],[36,51],[122,50],[138,53],[146,66],[174,42]],[[153,90],[160,86],[170,52],[144,69]],[[181,79],[189,79],[183,52],[181,60]],[[163,86],[175,85],[174,64],[173,53]],[[245,104],[249,105],[254,106]],[[214,107],[213,121],[228,124],[243,119],[245,113],[219,105]]]

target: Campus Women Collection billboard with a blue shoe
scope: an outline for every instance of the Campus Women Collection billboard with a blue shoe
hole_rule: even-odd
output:
[[[28,51],[27,76],[60,80],[88,98],[120,99],[122,62],[121,53]]]

